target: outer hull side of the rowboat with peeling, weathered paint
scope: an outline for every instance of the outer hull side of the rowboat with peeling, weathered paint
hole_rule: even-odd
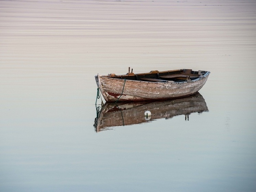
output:
[[[106,102],[146,101],[184,97],[198,92],[206,83],[210,72],[196,80],[185,82],[147,82],[95,76]]]

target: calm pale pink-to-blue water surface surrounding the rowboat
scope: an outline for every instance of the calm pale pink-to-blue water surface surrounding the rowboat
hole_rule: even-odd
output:
[[[255,31],[253,0],[1,0],[0,191],[255,191]],[[208,110],[97,131],[128,67],[210,71]]]

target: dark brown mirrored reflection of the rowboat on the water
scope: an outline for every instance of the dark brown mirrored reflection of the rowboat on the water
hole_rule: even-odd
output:
[[[145,111],[150,111],[151,116],[144,116]],[[189,114],[208,111],[205,99],[200,93],[194,95],[164,101],[145,101],[127,103],[106,103],[101,109],[96,107],[95,131],[100,132],[111,129],[114,126],[133,125],[150,122],[156,119],[169,119],[177,115],[185,115],[189,120]]]

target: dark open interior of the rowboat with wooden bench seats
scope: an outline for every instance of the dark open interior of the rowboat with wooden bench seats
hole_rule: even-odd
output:
[[[148,82],[183,82],[187,80],[194,80],[199,76],[205,74],[206,71],[193,71],[192,69],[178,69],[171,71],[150,71],[149,73],[137,73],[129,72],[125,75],[109,74],[107,77],[137,81]]]

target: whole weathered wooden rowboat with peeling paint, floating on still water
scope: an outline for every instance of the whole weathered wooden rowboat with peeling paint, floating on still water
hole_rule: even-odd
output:
[[[134,74],[129,68],[124,75],[98,74],[95,79],[106,102],[146,101],[192,95],[204,86],[209,74],[209,71],[192,69]]]

